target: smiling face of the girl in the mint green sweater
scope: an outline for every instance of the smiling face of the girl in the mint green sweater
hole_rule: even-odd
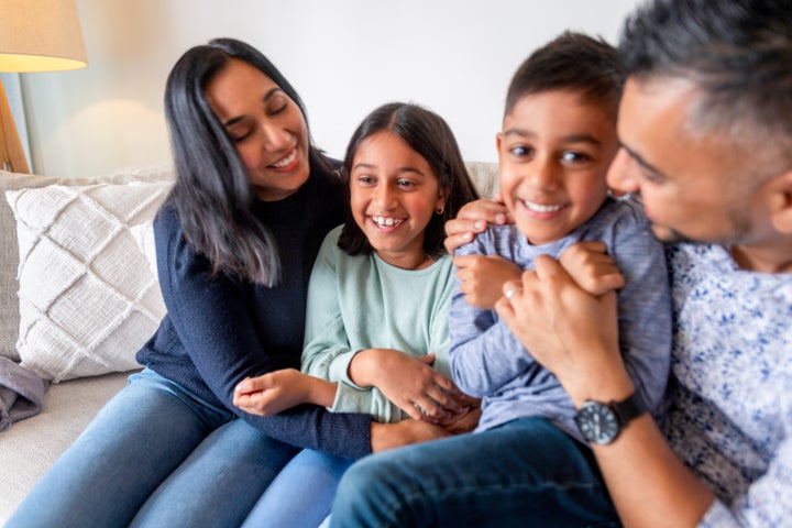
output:
[[[402,138],[377,132],[360,143],[350,193],[355,223],[382,260],[404,270],[431,264],[424,230],[443,207],[446,190],[429,163]]]

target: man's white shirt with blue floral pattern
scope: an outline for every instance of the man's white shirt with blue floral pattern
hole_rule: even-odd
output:
[[[717,496],[704,527],[792,526],[792,275],[669,250],[670,442]]]

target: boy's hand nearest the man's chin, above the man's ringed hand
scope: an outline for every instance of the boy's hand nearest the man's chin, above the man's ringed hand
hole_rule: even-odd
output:
[[[578,242],[561,254],[559,262],[578,286],[591,295],[598,297],[624,287],[624,276],[604,242]]]

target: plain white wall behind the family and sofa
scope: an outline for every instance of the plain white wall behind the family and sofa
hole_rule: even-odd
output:
[[[615,42],[636,0],[77,0],[89,66],[24,74],[33,169],[97,175],[169,163],[162,97],[188,47],[262,50],[297,88],[316,142],[342,156],[376,106],[443,116],[466,160],[495,161],[509,78],[564,29]]]

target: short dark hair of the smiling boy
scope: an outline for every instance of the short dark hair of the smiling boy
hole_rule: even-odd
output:
[[[616,121],[624,86],[616,48],[602,38],[566,31],[531,53],[512,77],[504,116],[519,99],[551,90],[579,91],[583,102],[600,103]]]

